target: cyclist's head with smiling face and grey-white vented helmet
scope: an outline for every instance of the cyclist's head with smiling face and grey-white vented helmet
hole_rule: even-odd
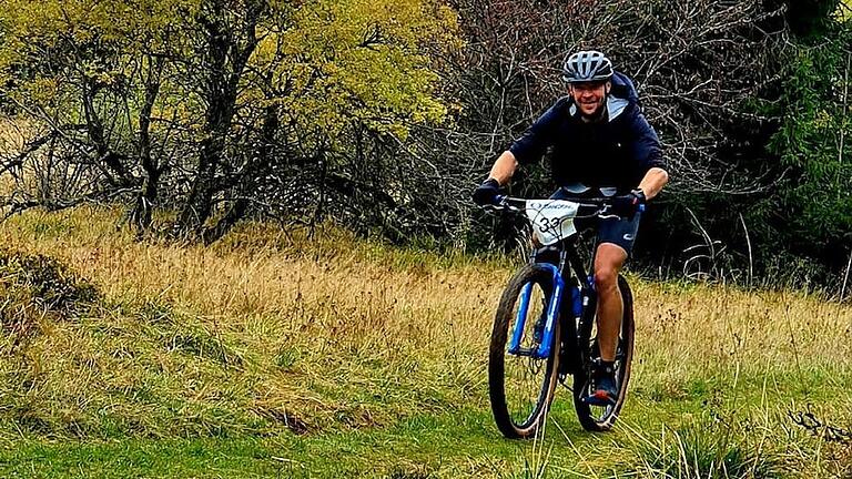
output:
[[[568,83],[571,98],[587,119],[599,118],[609,94],[612,62],[601,52],[584,50],[566,59],[562,80]]]

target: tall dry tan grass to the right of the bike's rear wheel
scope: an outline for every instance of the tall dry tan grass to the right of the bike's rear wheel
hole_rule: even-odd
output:
[[[852,360],[852,308],[815,295],[642,284],[636,310],[640,357],[661,369],[848,370]]]

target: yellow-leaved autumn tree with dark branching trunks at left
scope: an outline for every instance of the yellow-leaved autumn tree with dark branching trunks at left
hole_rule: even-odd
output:
[[[285,202],[294,169],[333,170],[353,131],[442,121],[433,59],[458,42],[429,0],[1,0],[0,24],[2,100],[32,125],[7,170],[48,157],[87,180],[12,207],[131,194],[139,227],[168,206],[207,241]],[[294,191],[352,190],[328,179]]]

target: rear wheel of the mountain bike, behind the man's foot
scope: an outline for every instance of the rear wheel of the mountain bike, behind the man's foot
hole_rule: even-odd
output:
[[[618,277],[618,288],[621,292],[621,300],[625,312],[621,316],[621,330],[618,336],[616,349],[616,380],[619,385],[618,401],[611,406],[590,406],[584,401],[591,393],[591,364],[598,359],[597,337],[592,332],[586,350],[582,351],[582,366],[574,375],[574,408],[582,428],[588,431],[607,431],[616,422],[621,407],[627,397],[627,383],[630,380],[630,365],[633,360],[633,338],[636,323],[633,320],[633,295],[630,285],[622,276]],[[596,317],[597,319],[597,317]],[[595,326],[597,330],[597,325]],[[582,346],[581,346],[582,347]]]

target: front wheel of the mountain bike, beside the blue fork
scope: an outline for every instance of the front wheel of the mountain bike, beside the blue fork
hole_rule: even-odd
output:
[[[508,338],[518,326],[519,296],[531,285],[529,308],[523,322],[521,350],[531,351],[540,339],[540,318],[545,317],[552,293],[550,269],[529,264],[509,281],[494,318],[488,358],[488,394],[497,428],[507,438],[532,437],[547,418],[559,369],[559,322],[555,324],[554,345],[548,358],[508,351]],[[544,320],[544,319],[541,319]],[[539,324],[539,332],[536,325]]]

